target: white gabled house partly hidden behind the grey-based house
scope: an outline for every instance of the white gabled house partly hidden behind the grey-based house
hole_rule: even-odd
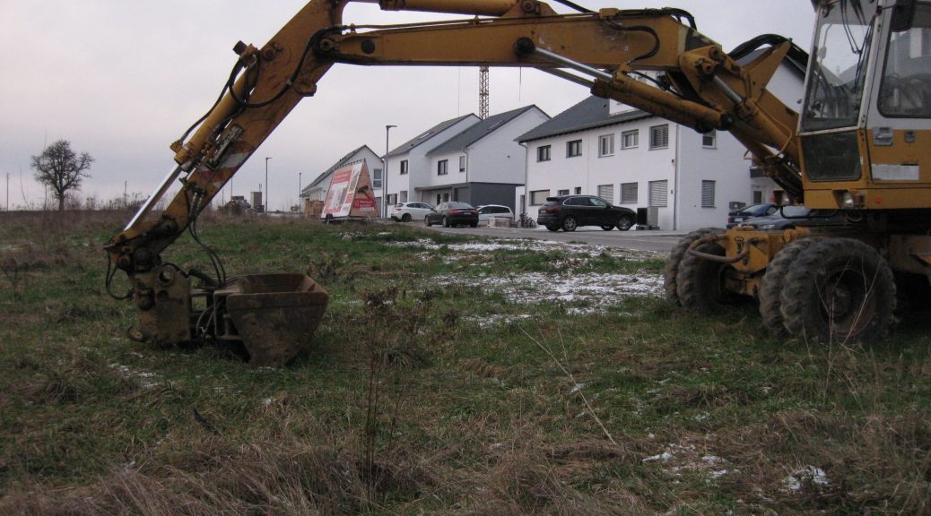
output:
[[[466,114],[452,120],[440,122],[430,127],[414,139],[405,141],[393,151],[385,154],[387,174],[385,192],[387,205],[406,203],[408,201],[429,202],[412,195],[414,188],[429,184],[431,171],[430,158],[426,153],[437,145],[451,139],[466,128],[478,124],[479,117]]]

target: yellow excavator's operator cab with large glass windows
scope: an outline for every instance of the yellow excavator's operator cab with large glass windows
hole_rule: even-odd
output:
[[[799,135],[805,205],[927,206],[931,2],[822,0],[816,20]]]

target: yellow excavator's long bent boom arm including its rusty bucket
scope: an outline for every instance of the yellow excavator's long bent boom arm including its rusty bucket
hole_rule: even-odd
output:
[[[522,66],[553,73],[589,86],[600,97],[697,130],[731,131],[771,177],[801,199],[797,115],[764,87],[788,43],[740,65],[697,33],[691,17],[678,9],[560,15],[536,0],[380,0],[386,9],[477,18],[361,27],[342,20],[349,1],[312,0],[264,46],[235,46],[239,59],[220,99],[171,145],[177,165],[106,247],[115,267],[128,273],[140,310],[141,328],[131,337],[162,343],[238,339],[253,363],[280,364],[299,349],[302,337],[313,333],[329,296],[310,278],[259,275],[227,282],[217,267],[219,277],[211,280],[163,263],[160,255],[187,229],[196,239],[198,215],[339,62]],[[647,84],[638,80],[646,77],[640,71],[663,75]],[[157,217],[150,216],[175,181],[182,183],[180,192]],[[108,274],[108,288],[111,278]],[[196,296],[207,298],[208,308],[193,313]],[[290,317],[289,311],[306,315]],[[273,325],[284,330],[282,335],[269,337],[259,323],[263,319],[280,320]],[[290,327],[295,321],[312,324]]]

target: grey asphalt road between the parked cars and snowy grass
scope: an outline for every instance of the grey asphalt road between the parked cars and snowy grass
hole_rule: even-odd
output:
[[[630,230],[627,232],[612,230],[606,232],[596,226],[579,228],[574,232],[563,232],[561,230],[559,232],[550,232],[546,230],[546,228],[525,230],[520,228],[488,228],[484,226],[479,226],[474,229],[467,227],[443,228],[441,226],[433,226],[430,229],[437,232],[466,233],[501,238],[536,238],[556,242],[584,242],[591,245],[604,245],[606,247],[657,252],[668,252],[679,242],[682,235],[685,234],[685,232],[637,230]]]

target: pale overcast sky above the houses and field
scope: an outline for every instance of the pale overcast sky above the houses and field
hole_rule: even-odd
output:
[[[810,0],[575,0],[601,7],[681,7],[698,29],[730,50],[761,33],[778,33],[807,49]],[[147,196],[174,164],[169,144],[207,111],[242,40],[262,46],[306,2],[277,0],[0,0],[0,207],[41,205],[30,156],[56,139],[97,160],[82,196],[101,200],[126,189]],[[560,12],[571,12],[555,2]],[[435,20],[455,18],[452,15]],[[417,13],[347,7],[345,23],[425,20]],[[535,70],[492,69],[492,114],[536,104],[551,116],[587,89]],[[239,170],[230,192],[264,182],[270,207],[296,204],[306,186],[344,153],[367,144],[385,152],[442,120],[479,111],[474,68],[336,65]],[[300,176],[299,176],[300,174]],[[264,187],[263,187],[264,190]],[[219,196],[218,196],[219,197]]]

